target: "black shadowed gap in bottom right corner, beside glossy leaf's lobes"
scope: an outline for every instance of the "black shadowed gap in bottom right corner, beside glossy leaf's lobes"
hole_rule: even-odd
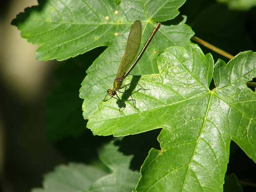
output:
[[[230,143],[230,155],[226,174],[235,173],[239,180],[256,183],[256,164],[244,151],[233,141]],[[256,187],[243,185],[244,192],[256,191]]]

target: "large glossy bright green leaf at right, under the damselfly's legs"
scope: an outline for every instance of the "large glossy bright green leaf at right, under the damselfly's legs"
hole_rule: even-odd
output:
[[[166,49],[158,65],[159,74],[140,78],[150,90],[133,94],[138,109],[125,101],[121,115],[115,99],[101,102],[87,127],[114,136],[163,127],[162,150],[150,150],[137,191],[222,191],[231,140],[256,162],[256,94],[246,86],[256,75],[256,53],[214,66],[211,54],[188,44]]]

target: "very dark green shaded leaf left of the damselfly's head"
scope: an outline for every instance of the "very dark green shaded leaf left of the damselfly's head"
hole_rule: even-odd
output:
[[[83,99],[79,97],[86,70],[107,47],[97,47],[74,58],[61,61],[54,76],[57,85],[47,98],[47,141],[54,143],[68,135],[77,137],[87,131],[83,117]]]

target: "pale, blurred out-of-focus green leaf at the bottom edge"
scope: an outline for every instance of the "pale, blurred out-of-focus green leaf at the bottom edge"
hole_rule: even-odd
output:
[[[35,188],[32,192],[132,191],[141,175],[129,169],[133,155],[124,156],[118,148],[112,141],[100,154],[102,163],[112,173],[85,164],[60,165],[44,176],[43,188]]]

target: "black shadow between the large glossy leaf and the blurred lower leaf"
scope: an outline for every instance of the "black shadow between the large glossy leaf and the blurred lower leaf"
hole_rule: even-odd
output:
[[[116,141],[119,145],[119,151],[124,155],[134,155],[132,158],[130,169],[140,171],[141,165],[144,163],[151,148],[160,150],[160,143],[157,137],[162,129],[155,129],[148,132],[125,136],[122,141]]]

